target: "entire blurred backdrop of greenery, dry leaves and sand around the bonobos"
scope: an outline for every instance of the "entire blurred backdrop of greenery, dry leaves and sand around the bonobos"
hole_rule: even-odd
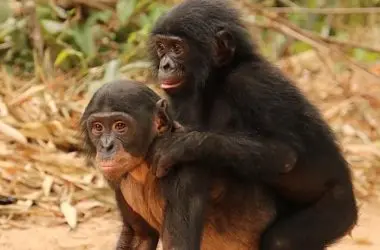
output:
[[[176,2],[0,0],[0,201],[10,203],[0,205],[1,249],[113,246],[113,196],[82,154],[79,117],[113,79],[159,92],[145,45]],[[352,166],[361,220],[336,249],[380,249],[380,0],[233,4],[262,53],[322,111]]]

